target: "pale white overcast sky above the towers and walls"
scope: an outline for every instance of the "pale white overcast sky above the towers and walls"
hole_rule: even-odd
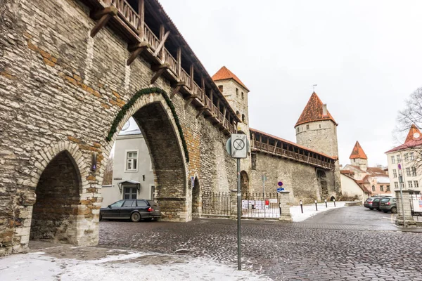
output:
[[[422,86],[422,1],[160,0],[210,75],[250,89],[250,126],[295,141],[312,84],[338,122],[340,164],[356,141],[387,164],[397,111]]]

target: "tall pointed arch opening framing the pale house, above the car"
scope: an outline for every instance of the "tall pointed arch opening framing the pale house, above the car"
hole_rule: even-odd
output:
[[[186,210],[182,144],[172,112],[155,98],[132,115],[134,124],[124,126],[126,133],[120,132],[116,138],[115,150],[110,153],[113,160],[109,160],[113,161],[113,179],[108,187],[103,185],[101,207],[128,198],[154,200],[163,219],[184,221],[182,215],[190,210]]]

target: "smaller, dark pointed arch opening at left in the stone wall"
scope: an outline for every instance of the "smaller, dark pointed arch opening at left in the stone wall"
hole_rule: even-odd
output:
[[[60,152],[39,178],[30,240],[76,243],[80,188],[79,170],[72,156]]]

